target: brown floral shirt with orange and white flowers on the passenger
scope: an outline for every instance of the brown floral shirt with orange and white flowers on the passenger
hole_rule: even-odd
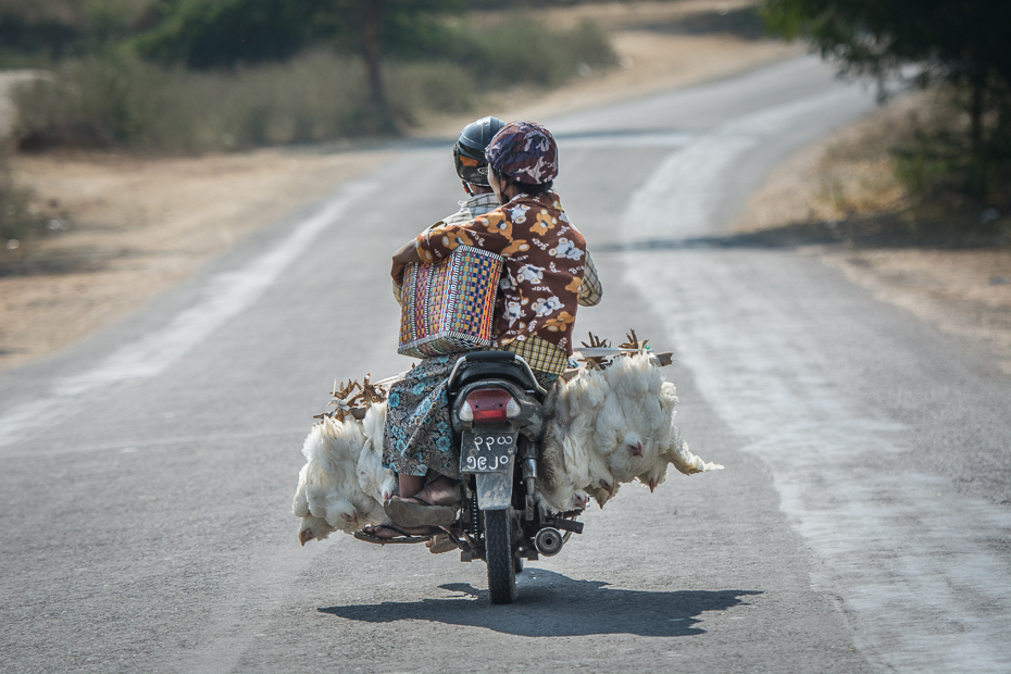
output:
[[[470,222],[430,227],[417,236],[415,245],[426,263],[444,259],[458,246],[502,255],[495,345],[536,335],[572,354],[586,241],[569,222],[558,195],[517,195]]]

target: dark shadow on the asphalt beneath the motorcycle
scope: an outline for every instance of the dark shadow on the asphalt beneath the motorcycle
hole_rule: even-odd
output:
[[[449,625],[485,627],[526,637],[567,637],[594,634],[634,634],[676,637],[704,634],[697,626],[704,611],[725,611],[742,603],[754,590],[638,591],[609,589],[601,581],[573,581],[541,569],[527,569],[516,577],[520,599],[492,607],[487,590],[469,583],[450,583],[441,589],[454,597],[421,601],[384,601],[380,604],[319,609],[321,613],[366,623],[425,620]]]

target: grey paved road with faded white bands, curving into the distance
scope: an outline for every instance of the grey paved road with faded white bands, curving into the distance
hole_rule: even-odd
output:
[[[775,162],[871,107],[798,59],[547,121],[606,284],[579,330],[676,349],[685,435],[726,470],[626,487],[513,606],[452,554],[299,548],[289,514],[333,378],[407,366],[386,259],[452,209],[448,147],[0,375],[0,669],[1011,670],[1008,377],[724,234]]]

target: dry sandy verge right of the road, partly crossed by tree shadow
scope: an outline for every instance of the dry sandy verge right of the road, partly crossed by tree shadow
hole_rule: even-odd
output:
[[[752,197],[738,230],[817,255],[878,299],[986,349],[1011,374],[1011,214],[989,223],[976,247],[937,223],[916,232],[923,222],[910,216],[885,151],[926,101],[895,101],[791,158]],[[1001,228],[1003,238],[993,234]]]

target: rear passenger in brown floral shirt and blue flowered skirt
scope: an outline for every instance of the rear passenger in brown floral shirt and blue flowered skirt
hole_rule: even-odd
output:
[[[454,151],[454,158],[460,155]],[[576,310],[600,301],[600,284],[583,235],[552,191],[558,146],[550,132],[534,122],[506,124],[490,138],[484,158],[498,208],[425,229],[394,254],[390,275],[400,283],[407,264],[437,262],[461,245],[502,255],[492,348],[521,355],[538,382],[550,386],[567,367]],[[457,165],[458,175],[474,186],[460,173],[460,162]],[[430,509],[432,524],[459,499],[460,458],[447,398],[459,358],[424,359],[391,387],[387,403],[383,458],[399,476],[400,495],[394,499],[409,501],[423,513]],[[387,521],[366,527],[363,540],[407,541],[427,533],[437,532]],[[433,539],[433,551],[435,544]]]

